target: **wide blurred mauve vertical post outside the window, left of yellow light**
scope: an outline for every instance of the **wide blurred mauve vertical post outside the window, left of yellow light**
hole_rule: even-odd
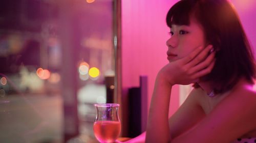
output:
[[[74,1],[62,0],[59,7],[59,34],[62,48],[63,138],[65,142],[79,134],[77,112],[77,39],[79,37],[76,30],[74,4]]]

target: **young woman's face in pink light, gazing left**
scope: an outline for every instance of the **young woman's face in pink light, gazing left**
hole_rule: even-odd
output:
[[[166,41],[169,62],[183,58],[199,46],[205,46],[203,29],[193,18],[190,18],[190,25],[173,24],[170,35]]]

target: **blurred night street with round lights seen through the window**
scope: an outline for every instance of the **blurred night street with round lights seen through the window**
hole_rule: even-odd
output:
[[[114,8],[111,0],[0,2],[0,142],[93,137],[93,104],[114,95]]]

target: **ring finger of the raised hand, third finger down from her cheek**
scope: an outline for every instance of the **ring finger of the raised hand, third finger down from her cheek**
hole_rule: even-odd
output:
[[[208,57],[203,62],[199,63],[198,65],[190,69],[189,71],[190,74],[193,74],[197,71],[200,71],[208,67],[214,59],[215,59],[215,52],[211,52],[210,55],[208,55]]]

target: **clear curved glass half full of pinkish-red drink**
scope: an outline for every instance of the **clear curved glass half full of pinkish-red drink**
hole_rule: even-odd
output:
[[[94,104],[96,119],[93,130],[100,142],[112,143],[121,132],[121,123],[118,117],[119,104]]]

